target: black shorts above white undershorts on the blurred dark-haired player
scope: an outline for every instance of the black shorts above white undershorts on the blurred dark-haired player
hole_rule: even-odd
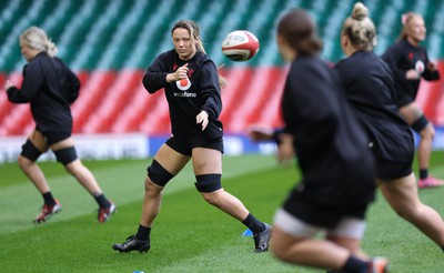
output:
[[[305,223],[333,229],[344,218],[365,219],[367,205],[332,206],[314,204],[301,199],[289,199],[284,210]]]

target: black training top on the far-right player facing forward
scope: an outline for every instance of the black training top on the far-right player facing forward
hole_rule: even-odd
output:
[[[415,100],[421,79],[407,80],[406,72],[415,69],[427,81],[438,80],[440,72],[431,71],[427,52],[423,47],[414,47],[406,39],[392,44],[382,55],[392,69],[395,80],[396,104],[403,107]]]

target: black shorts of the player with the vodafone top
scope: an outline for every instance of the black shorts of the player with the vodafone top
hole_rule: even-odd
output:
[[[190,140],[184,140],[182,138],[176,138],[176,136],[171,136],[170,139],[167,140],[167,145],[169,145],[171,149],[176,151],[178,153],[181,153],[183,155],[191,156],[191,152],[193,148],[208,148],[208,149],[214,149],[223,153],[223,139],[222,136],[212,139],[212,140],[198,140],[198,139],[190,139]]]

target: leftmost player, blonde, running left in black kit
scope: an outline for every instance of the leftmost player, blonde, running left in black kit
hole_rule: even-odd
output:
[[[23,68],[21,89],[7,81],[8,99],[12,103],[30,103],[36,129],[28,136],[18,159],[20,169],[43,195],[44,204],[34,223],[46,222],[61,211],[61,204],[52,196],[43,172],[36,163],[49,149],[57,161],[83,185],[99,204],[98,220],[105,222],[115,205],[102,193],[93,174],[77,156],[72,133],[70,104],[79,94],[80,81],[54,54],[57,47],[47,33],[31,27],[20,36],[21,53],[28,64]]]

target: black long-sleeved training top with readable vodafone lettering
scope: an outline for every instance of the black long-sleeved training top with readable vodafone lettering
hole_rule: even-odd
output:
[[[167,74],[185,63],[189,79],[167,82]],[[222,136],[222,122],[218,120],[222,111],[219,73],[206,54],[196,51],[192,59],[183,61],[175,50],[161,53],[147,69],[143,85],[150,93],[162,88],[165,90],[174,136],[205,140]],[[202,110],[209,114],[209,124],[203,132],[202,125],[195,122]]]

